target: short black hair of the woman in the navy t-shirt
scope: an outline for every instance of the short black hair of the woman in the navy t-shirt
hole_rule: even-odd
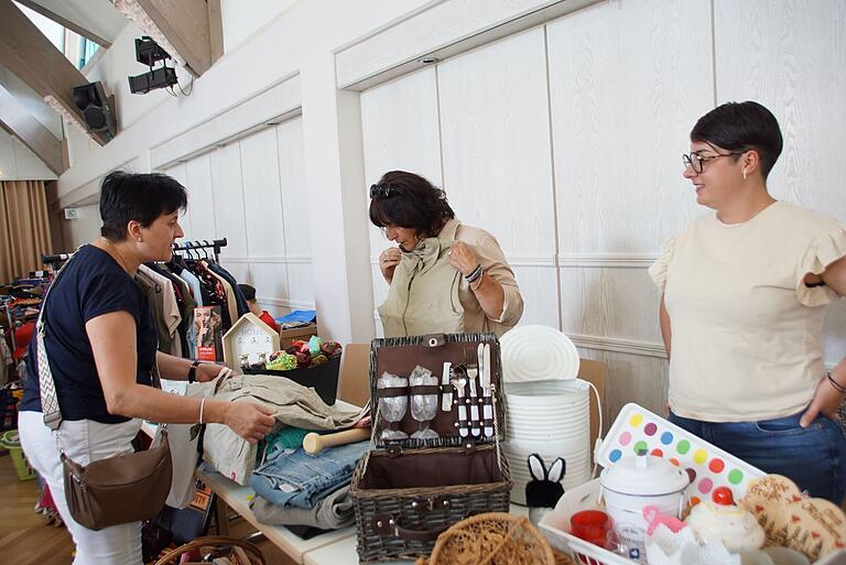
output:
[[[122,241],[130,221],[147,228],[164,214],[184,210],[187,204],[185,187],[167,175],[115,171],[100,185],[100,235]]]

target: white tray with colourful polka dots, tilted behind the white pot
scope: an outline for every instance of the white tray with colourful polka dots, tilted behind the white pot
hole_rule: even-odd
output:
[[[626,404],[596,453],[596,460],[603,467],[610,467],[621,457],[637,455],[642,449],[687,472],[691,477],[687,495],[694,503],[709,499],[717,487],[730,488],[735,500],[740,500],[750,481],[764,475],[647,409]]]

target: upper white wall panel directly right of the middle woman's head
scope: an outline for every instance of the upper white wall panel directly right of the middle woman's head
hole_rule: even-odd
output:
[[[543,29],[438,67],[444,188],[506,256],[555,252]]]

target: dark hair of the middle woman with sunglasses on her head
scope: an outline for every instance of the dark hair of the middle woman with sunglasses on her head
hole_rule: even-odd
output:
[[[415,229],[419,236],[436,236],[444,222],[455,218],[446,193],[422,176],[389,171],[379,180],[381,194],[370,198],[370,221],[375,226]]]

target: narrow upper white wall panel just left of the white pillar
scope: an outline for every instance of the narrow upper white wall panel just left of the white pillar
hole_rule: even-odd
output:
[[[284,121],[275,130],[282,189],[282,229],[279,235],[285,238],[289,256],[308,257],[312,252],[308,222],[312,216],[319,221],[319,210],[312,214],[305,196],[303,119],[297,117]]]

